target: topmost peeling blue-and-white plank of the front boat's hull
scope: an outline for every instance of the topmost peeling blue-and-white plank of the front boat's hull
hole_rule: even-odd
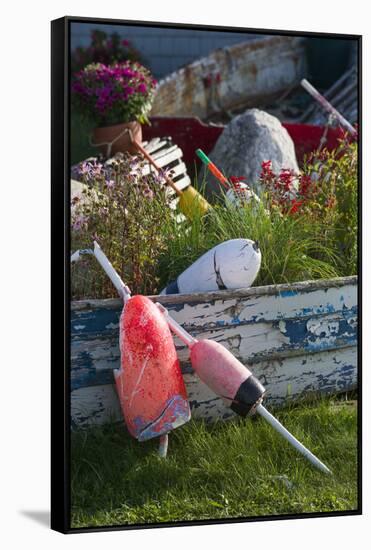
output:
[[[335,280],[337,281],[337,280]],[[265,293],[255,293],[254,288],[241,291],[210,292],[202,295],[168,295],[156,296],[154,300],[164,304],[178,323],[184,324],[187,330],[212,330],[215,328],[255,324],[267,321],[285,321],[287,319],[311,319],[315,316],[341,312],[343,317],[351,319],[357,307],[357,286],[354,281],[338,280],[338,286],[316,288],[314,285],[300,288],[300,284],[276,285],[275,294],[270,287]],[[298,288],[295,288],[297,286]],[[194,296],[199,296],[198,300]],[[95,310],[99,308],[99,316]],[[112,315],[112,310],[116,313]],[[72,335],[101,332],[115,328],[118,323],[118,312],[121,310],[119,300],[84,301],[72,306]]]

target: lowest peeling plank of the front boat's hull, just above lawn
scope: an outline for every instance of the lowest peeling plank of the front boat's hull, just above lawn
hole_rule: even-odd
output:
[[[357,350],[352,347],[283,361],[266,361],[254,366],[253,370],[267,389],[265,403],[277,408],[317,393],[332,394],[355,389]],[[185,374],[184,379],[194,418],[214,421],[234,416],[223,400],[216,397],[195,374]],[[71,416],[75,426],[122,420],[114,386],[104,384],[72,391]]]

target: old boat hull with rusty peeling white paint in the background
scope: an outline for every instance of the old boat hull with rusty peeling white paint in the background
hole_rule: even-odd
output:
[[[199,116],[259,107],[306,73],[304,40],[258,38],[213,51],[160,81],[151,116]]]

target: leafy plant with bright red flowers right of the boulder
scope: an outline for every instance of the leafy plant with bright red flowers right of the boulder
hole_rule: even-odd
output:
[[[358,147],[345,136],[339,146],[309,155],[303,172],[274,174],[262,165],[261,184],[270,208],[321,228],[322,242],[333,247],[343,274],[357,271]]]

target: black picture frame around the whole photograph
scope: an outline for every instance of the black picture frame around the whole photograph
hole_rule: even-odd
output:
[[[356,40],[358,43],[358,507],[351,511],[71,528],[70,508],[70,26],[74,22]],[[362,36],[90,17],[51,22],[51,528],[61,533],[274,521],[362,514]]]

